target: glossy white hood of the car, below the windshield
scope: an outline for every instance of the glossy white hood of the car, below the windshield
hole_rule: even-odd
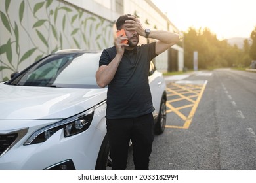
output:
[[[106,100],[106,88],[47,88],[0,84],[0,120],[64,119]]]

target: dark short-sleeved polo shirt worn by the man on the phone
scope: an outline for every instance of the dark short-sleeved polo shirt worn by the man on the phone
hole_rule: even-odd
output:
[[[148,84],[150,61],[157,56],[156,42],[142,44],[123,54],[116,75],[108,84],[106,118],[135,118],[153,112]],[[99,65],[108,65],[116,47],[103,50]]]

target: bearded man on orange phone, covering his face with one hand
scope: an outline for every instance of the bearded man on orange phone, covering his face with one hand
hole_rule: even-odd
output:
[[[112,156],[112,169],[126,169],[130,139],[135,169],[148,169],[154,139],[152,97],[148,84],[150,61],[179,41],[168,31],[144,29],[138,18],[126,14],[116,22],[125,29],[116,45],[103,50],[96,81],[108,85],[106,125]],[[137,46],[139,35],[156,42]],[[127,40],[128,44],[122,43]]]

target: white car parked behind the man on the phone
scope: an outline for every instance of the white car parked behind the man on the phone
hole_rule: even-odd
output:
[[[0,84],[0,169],[106,169],[106,92],[101,52],[60,50]],[[156,133],[166,120],[165,81],[151,64]]]

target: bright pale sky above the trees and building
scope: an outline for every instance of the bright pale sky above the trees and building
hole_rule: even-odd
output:
[[[217,38],[249,38],[256,27],[256,0],[152,0],[180,31],[208,27]]]

